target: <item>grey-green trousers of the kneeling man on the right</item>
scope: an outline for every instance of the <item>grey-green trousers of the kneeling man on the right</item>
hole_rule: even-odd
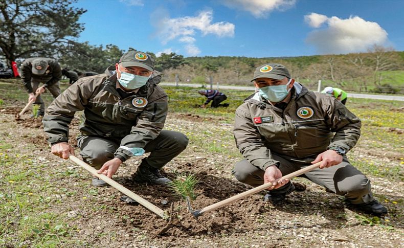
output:
[[[280,156],[274,153],[272,155],[275,160],[280,162],[279,169],[282,175],[307,167],[315,159],[315,157],[310,157],[297,160],[284,155]],[[245,159],[238,162],[232,172],[236,179],[244,184],[257,187],[264,183],[264,171]],[[352,204],[363,204],[373,200],[370,180],[361,171],[353,167],[346,156],[343,157],[343,162],[339,165],[324,169],[317,168],[307,172],[302,177],[336,194],[345,196]],[[291,183],[289,182],[279,189],[271,190],[271,192],[275,194],[285,193],[290,187]]]

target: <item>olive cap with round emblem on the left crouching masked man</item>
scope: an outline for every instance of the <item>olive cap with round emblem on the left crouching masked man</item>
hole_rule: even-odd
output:
[[[151,72],[154,70],[154,59],[149,54],[136,50],[130,50],[124,53],[119,63],[124,67],[140,66]]]

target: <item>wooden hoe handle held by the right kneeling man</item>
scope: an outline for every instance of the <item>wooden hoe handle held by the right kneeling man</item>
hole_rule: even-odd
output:
[[[322,161],[320,161],[319,163],[307,166],[307,167],[305,167],[303,169],[300,169],[300,170],[297,170],[297,171],[292,172],[290,174],[287,174],[285,176],[282,176],[281,178],[277,179],[276,181],[279,181],[281,179],[291,179],[291,178],[294,178],[296,176],[302,175],[302,174],[307,173],[307,172],[309,172],[309,171],[311,171],[313,169],[316,169],[317,167],[320,166],[321,163],[322,163]],[[213,211],[215,209],[218,209],[220,207],[223,207],[225,205],[231,204],[233,201],[236,201],[238,199],[241,199],[241,198],[250,196],[252,194],[258,193],[258,192],[260,192],[262,190],[270,188],[271,186],[272,186],[272,183],[266,183],[266,184],[260,185],[258,187],[255,187],[254,189],[251,189],[251,190],[245,191],[243,193],[240,193],[238,195],[232,196],[230,198],[224,199],[224,200],[219,201],[219,202],[217,202],[217,203],[215,203],[215,204],[213,204],[211,206],[208,206],[208,207],[205,207],[205,208],[199,210],[198,215],[201,215],[203,213],[207,213],[207,212]]]

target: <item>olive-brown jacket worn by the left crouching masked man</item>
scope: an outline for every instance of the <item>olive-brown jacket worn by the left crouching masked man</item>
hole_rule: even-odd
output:
[[[121,140],[115,157],[122,161],[133,155],[127,148],[144,148],[159,135],[168,111],[168,96],[157,85],[161,74],[121,99],[116,74],[107,73],[79,79],[51,103],[42,119],[50,144],[68,142],[69,124],[81,110],[81,134]]]

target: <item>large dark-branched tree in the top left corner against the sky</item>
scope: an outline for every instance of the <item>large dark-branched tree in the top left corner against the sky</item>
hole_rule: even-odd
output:
[[[7,63],[64,50],[84,30],[76,0],[0,0],[0,48]]]

